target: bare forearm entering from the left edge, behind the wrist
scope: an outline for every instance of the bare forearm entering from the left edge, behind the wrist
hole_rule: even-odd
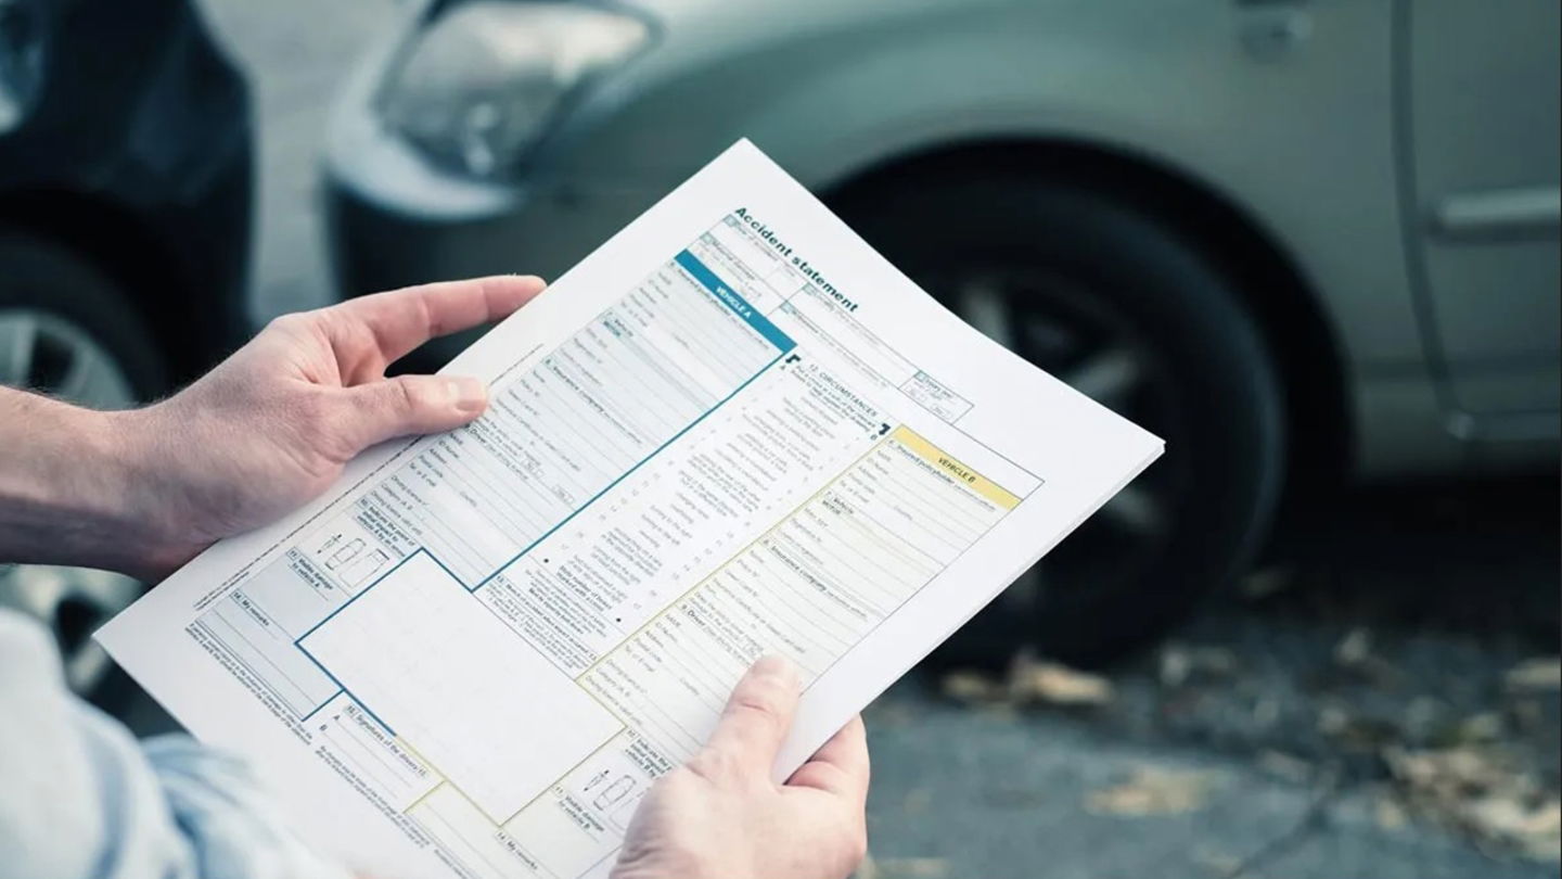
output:
[[[164,571],[141,422],[0,388],[0,561]]]

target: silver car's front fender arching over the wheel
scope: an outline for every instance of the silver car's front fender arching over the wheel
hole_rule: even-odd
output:
[[[747,136],[828,192],[961,144],[1129,155],[1214,194],[1290,257],[1343,350],[1364,441],[1393,433],[1401,450],[1367,449],[1370,469],[1451,454],[1417,441],[1442,429],[1403,250],[1387,3],[1314,5],[1278,55],[1245,42],[1251,9],[1203,2],[786,14],[786,27],[736,13],[667,22],[550,158],[567,178],[670,186]]]

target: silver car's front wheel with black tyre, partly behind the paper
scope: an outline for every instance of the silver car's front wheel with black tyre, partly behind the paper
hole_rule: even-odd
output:
[[[1251,558],[1281,486],[1281,389],[1229,278],[1173,224],[1114,196],[993,175],[848,192],[839,208],[973,327],[1167,441],[936,663],[995,665],[1022,644],[1109,662]]]

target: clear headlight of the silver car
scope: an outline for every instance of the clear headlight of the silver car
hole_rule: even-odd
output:
[[[492,177],[519,164],[573,94],[648,38],[644,20],[598,6],[458,3],[392,64],[376,109],[428,158]]]

